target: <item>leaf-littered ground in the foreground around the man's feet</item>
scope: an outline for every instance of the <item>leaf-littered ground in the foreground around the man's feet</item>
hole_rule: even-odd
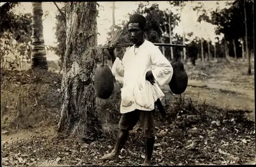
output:
[[[254,122],[244,111],[202,106],[185,106],[168,113],[157,123],[153,165],[246,164],[255,158]],[[101,161],[115,144],[117,127],[104,128],[103,136],[93,143],[57,135],[31,136],[2,144],[3,165],[139,165],[144,158],[141,129],[131,131],[120,154],[120,162]]]

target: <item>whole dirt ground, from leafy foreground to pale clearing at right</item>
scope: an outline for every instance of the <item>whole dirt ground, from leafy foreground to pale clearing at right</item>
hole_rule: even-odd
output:
[[[184,94],[172,95],[168,86],[162,88],[166,95],[162,103],[167,110],[167,116],[163,119],[158,112],[155,115],[157,134],[153,165],[255,163],[254,68],[253,75],[246,75],[246,62],[237,61],[236,63],[210,62],[196,67],[185,65],[185,70],[189,81]],[[54,77],[51,77],[53,75]],[[3,77],[1,71],[1,86],[4,82],[3,78],[11,78],[10,76],[11,74],[8,73]],[[37,120],[31,120],[35,114],[26,116],[24,113],[30,109],[24,109],[23,117],[30,118],[27,122],[20,121],[20,114],[14,115],[14,112],[11,112],[17,110],[16,103],[23,104],[16,102],[19,101],[18,91],[15,92],[14,88],[11,88],[12,94],[16,94],[9,104],[1,100],[1,106],[5,104],[6,111],[10,111],[8,114],[1,107],[3,166],[142,164],[144,143],[139,124],[131,132],[120,155],[119,163],[100,161],[98,158],[111,151],[114,146],[117,124],[109,123],[111,121],[108,119],[102,121],[104,133],[93,143],[84,144],[67,136],[58,136],[55,125],[58,121],[59,101],[55,101],[57,103],[55,105],[51,101],[59,98],[61,77],[55,74],[43,75],[31,72],[21,74],[15,72],[15,77],[23,77],[16,79],[16,84],[27,78],[27,83],[24,83],[25,92],[39,89],[34,82],[35,78],[40,77],[42,79],[37,81],[41,83],[40,89],[45,90],[42,88],[46,87],[50,91],[48,94],[37,93],[30,97],[37,98],[36,104],[31,103],[34,106],[31,109],[43,114],[37,116]],[[5,83],[8,83],[7,79]],[[12,80],[12,84],[15,83]],[[7,98],[10,92],[5,94],[7,86],[5,90],[2,88],[1,94],[4,95],[1,95],[1,98]],[[48,100],[39,100],[47,98]],[[118,108],[118,102],[113,102],[116,97],[111,98],[109,101],[104,101],[104,104],[111,103],[102,107],[104,110]],[[97,105],[100,105],[99,101]],[[22,113],[21,110],[19,109],[18,112]],[[19,123],[15,124],[16,122]],[[29,128],[30,126],[32,127]]]

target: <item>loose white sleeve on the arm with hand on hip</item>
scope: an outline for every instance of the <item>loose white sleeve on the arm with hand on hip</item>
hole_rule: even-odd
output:
[[[173,76],[173,67],[164,57],[159,48],[152,48],[151,61],[156,68],[152,70],[152,74],[160,86],[168,84]]]

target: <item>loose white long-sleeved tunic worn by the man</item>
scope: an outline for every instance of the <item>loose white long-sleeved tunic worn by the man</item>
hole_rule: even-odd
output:
[[[154,85],[145,79],[149,70],[157,81]],[[124,114],[135,109],[153,110],[155,101],[164,96],[158,85],[170,82],[173,67],[157,46],[145,40],[139,48],[128,47],[122,61],[116,58],[112,73],[117,81],[120,77],[123,80],[120,113]]]

